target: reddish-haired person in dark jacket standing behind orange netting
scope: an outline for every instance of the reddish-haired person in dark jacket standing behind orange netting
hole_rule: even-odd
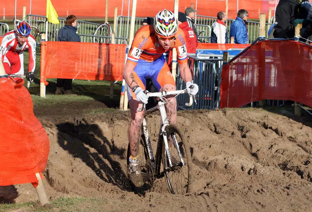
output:
[[[57,41],[72,41],[80,42],[80,37],[77,34],[77,18],[74,15],[66,17],[65,26],[63,26],[57,34]],[[61,79],[56,80],[56,92],[55,94],[62,94],[62,88],[64,87],[64,94],[74,95],[71,92],[73,79]]]

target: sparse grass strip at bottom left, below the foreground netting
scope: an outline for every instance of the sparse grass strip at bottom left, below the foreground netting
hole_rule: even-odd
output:
[[[59,198],[50,202],[52,209],[41,207],[38,202],[20,203],[20,204],[0,204],[0,212],[14,212],[14,211],[32,211],[32,212],[104,212],[115,211],[118,208],[113,202],[106,199],[71,197]],[[113,208],[113,210],[111,210]]]

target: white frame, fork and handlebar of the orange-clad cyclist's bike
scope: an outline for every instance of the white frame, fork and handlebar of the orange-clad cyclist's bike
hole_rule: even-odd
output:
[[[170,158],[170,151],[169,151],[168,140],[167,140],[167,128],[168,128],[168,126],[170,126],[170,124],[169,124],[169,119],[168,119],[167,113],[166,113],[165,102],[164,102],[162,97],[166,96],[166,95],[179,95],[181,93],[187,93],[186,89],[185,90],[177,90],[177,91],[168,91],[168,92],[161,91],[161,92],[157,92],[157,93],[147,93],[147,95],[149,97],[156,96],[159,99],[158,100],[158,106],[151,108],[151,109],[146,111],[146,113],[149,114],[149,113],[152,113],[158,109],[160,112],[160,117],[161,117],[161,125],[160,125],[160,129],[159,129],[158,145],[157,145],[157,151],[156,151],[156,156],[155,156],[157,158],[157,164],[156,164],[157,167],[155,167],[155,159],[154,159],[152,145],[151,145],[150,139],[149,139],[149,132],[148,132],[147,125],[146,125],[146,120],[145,120],[145,118],[143,119],[143,133],[144,133],[144,137],[145,137],[146,146],[148,149],[149,159],[151,160],[153,170],[155,170],[154,168],[157,168],[157,172],[159,172],[159,169],[160,169],[160,161],[159,161],[159,158],[160,158],[159,156],[161,156],[161,147],[159,146],[159,145],[161,145],[159,142],[160,136],[163,136],[163,141],[165,144],[165,152],[167,153],[167,156],[168,156],[169,167],[171,168],[173,166],[172,162],[171,162],[171,158]],[[189,96],[189,102],[186,103],[186,105],[191,106],[192,104],[193,104],[193,97]],[[138,111],[139,112],[142,111],[143,107],[144,107],[144,104],[142,104],[141,108],[138,108]],[[179,150],[177,139],[175,136],[172,138],[173,138],[173,145],[176,147],[176,149],[178,151],[178,156],[180,157],[180,160],[181,160],[181,163],[179,165],[175,165],[175,166],[180,166],[180,165],[184,166],[185,163],[183,161],[181,152]]]

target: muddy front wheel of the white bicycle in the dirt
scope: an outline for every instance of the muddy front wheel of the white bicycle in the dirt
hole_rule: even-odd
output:
[[[186,194],[190,192],[190,185],[192,182],[192,157],[188,142],[183,139],[183,135],[178,128],[170,126],[167,128],[167,140],[169,137],[176,139],[178,142],[178,148],[181,152],[182,159],[185,163],[184,166],[174,166],[181,163],[180,157],[178,155],[178,150],[174,144],[171,146],[171,162],[173,167],[169,167],[168,155],[165,150],[165,143],[163,142],[163,170],[166,181],[168,183],[168,188],[171,194]],[[163,140],[163,139],[162,139]],[[169,145],[170,146],[170,145]],[[174,158],[174,159],[173,159]]]

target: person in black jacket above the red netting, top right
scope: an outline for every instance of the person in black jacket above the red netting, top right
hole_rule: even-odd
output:
[[[307,11],[301,7],[305,0],[280,0],[276,7],[277,24],[274,27],[274,38],[292,38],[295,36],[295,19],[306,19]]]

